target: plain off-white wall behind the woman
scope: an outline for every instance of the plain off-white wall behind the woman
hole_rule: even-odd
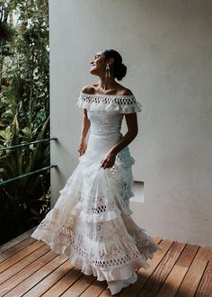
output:
[[[133,217],[154,237],[212,247],[212,2],[50,0],[52,206],[78,163],[76,106],[93,55],[117,49],[120,82],[142,103],[130,145],[144,202]],[[137,149],[139,147],[139,149]]]

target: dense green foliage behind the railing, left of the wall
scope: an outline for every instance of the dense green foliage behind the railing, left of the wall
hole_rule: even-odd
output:
[[[0,148],[49,137],[49,4],[0,1]],[[49,142],[0,151],[0,180],[49,166]],[[0,185],[0,244],[49,211],[49,172]],[[15,228],[14,228],[15,226]]]

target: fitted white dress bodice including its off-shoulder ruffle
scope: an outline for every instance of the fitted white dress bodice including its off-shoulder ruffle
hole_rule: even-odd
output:
[[[134,94],[85,94],[81,93],[77,105],[87,110],[91,133],[87,153],[103,155],[122,137],[120,133],[124,113],[141,111]]]

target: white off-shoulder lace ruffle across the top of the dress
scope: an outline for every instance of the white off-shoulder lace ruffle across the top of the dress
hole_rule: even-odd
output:
[[[114,111],[119,113],[141,112],[142,105],[138,103],[134,94],[85,94],[80,93],[78,107],[89,111]]]

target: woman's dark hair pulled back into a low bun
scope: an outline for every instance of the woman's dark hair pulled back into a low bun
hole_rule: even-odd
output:
[[[118,80],[121,80],[127,73],[127,67],[122,63],[122,58],[118,51],[115,49],[103,49],[103,54],[106,59],[114,58],[114,63],[112,64],[113,75]]]

